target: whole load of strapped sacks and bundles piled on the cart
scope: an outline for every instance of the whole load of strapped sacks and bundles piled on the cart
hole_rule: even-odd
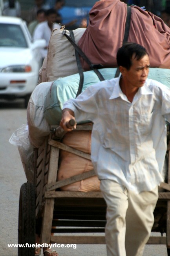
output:
[[[101,4],[105,8],[102,10],[102,15],[99,19],[98,15]],[[115,11],[118,7],[119,12],[122,13],[122,15],[119,13],[122,20],[116,22],[115,28],[113,21],[118,19],[118,16],[116,16],[117,11]],[[110,29],[110,19],[108,28],[102,26],[102,24],[105,24],[106,17],[108,17],[109,8],[111,8],[111,13],[113,14],[109,16],[110,19],[112,18],[112,30]],[[144,46],[146,45],[152,64],[148,78],[157,80],[170,87],[170,62],[168,62],[170,29],[167,28],[160,18],[156,18],[152,13],[148,13],[139,7],[131,9],[128,41],[136,41]],[[76,98],[87,87],[101,80],[110,80],[115,77],[117,74],[115,55],[117,48],[122,45],[124,27],[127,21],[126,15],[127,7],[123,2],[119,0],[99,1],[90,11],[90,22],[87,29],[78,28],[72,32],[63,28],[53,30],[49,42],[48,56],[44,59],[39,73],[39,84],[32,93],[27,108],[29,139],[33,147],[39,148],[43,144],[46,136],[50,134],[51,125],[59,126],[64,102],[69,98]],[[143,22],[139,22],[141,17],[144,20],[152,19],[152,22],[148,22],[145,27],[141,28],[141,24],[143,24]],[[155,22],[154,25],[153,21]],[[93,27],[93,25],[95,26]],[[138,29],[135,28],[136,26],[138,26]],[[148,30],[149,33],[149,39],[147,40],[146,37],[143,38],[141,36],[145,30]],[[147,37],[148,33],[146,33]],[[153,41],[152,35],[155,37],[155,33],[157,38],[159,38],[156,43],[162,42],[166,46],[163,50],[162,46],[154,46],[154,49],[153,46],[148,47],[150,46],[150,40]],[[76,48],[77,45],[80,47]],[[158,54],[161,53],[159,58],[155,58],[155,50]],[[153,55],[154,58],[152,58]],[[80,65],[80,58],[82,65]],[[88,121],[85,124],[91,125]],[[61,142],[89,155],[91,153],[91,131],[67,133]],[[65,150],[60,150],[57,180],[69,178],[92,169],[93,166],[90,159],[83,159]],[[61,189],[70,191],[99,191],[100,182],[97,176],[93,176],[64,186]]]

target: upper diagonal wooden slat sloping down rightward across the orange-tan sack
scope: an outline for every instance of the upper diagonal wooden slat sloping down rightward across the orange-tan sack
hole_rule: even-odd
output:
[[[61,143],[59,141],[55,141],[53,139],[49,139],[48,141],[49,145],[53,146],[53,147],[57,147],[57,148],[60,148],[62,150],[65,150],[65,151],[68,151],[70,153],[73,153],[77,156],[80,156],[82,158],[85,158],[85,159],[88,159],[88,160],[91,160],[91,155],[88,154],[88,153],[84,153],[78,149],[75,149],[75,148],[72,148],[72,147],[69,147],[67,145],[65,145],[64,143]]]

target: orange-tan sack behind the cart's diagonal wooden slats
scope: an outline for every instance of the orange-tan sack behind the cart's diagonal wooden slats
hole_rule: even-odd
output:
[[[79,149],[85,153],[91,153],[91,131],[73,131],[64,135],[62,142],[70,147]],[[57,180],[70,178],[71,176],[93,170],[90,160],[86,160],[75,154],[60,150],[59,169]],[[63,191],[100,191],[100,181],[93,176],[80,182],[64,186]]]

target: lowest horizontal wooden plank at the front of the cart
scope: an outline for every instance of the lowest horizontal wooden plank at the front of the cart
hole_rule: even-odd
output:
[[[51,243],[66,244],[105,244],[104,236],[51,236]]]

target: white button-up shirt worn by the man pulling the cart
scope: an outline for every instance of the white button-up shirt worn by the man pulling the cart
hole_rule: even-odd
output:
[[[93,122],[91,161],[99,179],[151,191],[163,182],[170,89],[147,79],[131,103],[119,79],[91,85],[63,109],[73,110],[77,122]]]

